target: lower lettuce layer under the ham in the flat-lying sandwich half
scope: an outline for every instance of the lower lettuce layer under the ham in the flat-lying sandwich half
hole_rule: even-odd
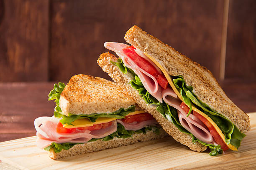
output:
[[[118,123],[118,130],[115,131],[114,133],[105,136],[104,138],[100,138],[103,141],[108,141],[108,140],[112,140],[114,137],[116,138],[131,138],[133,136],[133,134],[139,134],[139,133],[143,133],[146,134],[147,131],[151,131],[153,130],[154,133],[156,133],[157,135],[160,134],[159,128],[156,126],[146,126],[140,130],[125,130],[125,128],[123,127],[123,125]],[[91,140],[89,140],[88,142],[93,142],[96,140],[100,140],[100,139],[95,139],[92,138]],[[68,150],[69,148],[72,148],[74,145],[77,144],[82,144],[82,143],[51,143],[51,145],[49,145],[48,147],[44,148],[44,150],[51,150],[51,148],[54,148],[54,152],[55,153],[59,153],[61,152],[61,150]]]

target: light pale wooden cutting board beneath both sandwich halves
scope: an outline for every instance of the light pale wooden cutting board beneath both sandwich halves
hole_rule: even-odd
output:
[[[62,160],[51,160],[36,148],[36,136],[0,143],[0,169],[28,170],[164,170],[164,169],[256,169],[256,113],[248,114],[251,131],[238,151],[211,157],[205,151],[193,152],[171,137],[145,143],[88,153]]]

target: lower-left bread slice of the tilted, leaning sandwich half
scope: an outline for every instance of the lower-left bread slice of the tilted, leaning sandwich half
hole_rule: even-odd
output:
[[[195,150],[197,152],[202,152],[207,149],[206,146],[201,145],[200,143],[192,143],[192,138],[190,135],[187,135],[185,133],[182,133],[179,131],[179,129],[169,122],[167,119],[165,119],[157,110],[156,106],[153,105],[148,105],[146,102],[143,100],[143,98],[138,94],[138,91],[135,90],[130,84],[128,84],[131,80],[132,77],[129,77],[129,75],[123,74],[119,70],[118,67],[113,65],[110,61],[116,61],[117,57],[114,55],[110,54],[109,52],[103,53],[100,55],[100,58],[97,60],[98,65],[102,67],[102,70],[107,72],[108,75],[117,83],[123,85],[129,95],[133,96],[134,99],[136,100],[137,104],[146,110],[148,113],[153,115],[153,117],[159,122],[161,127],[171,135],[175,140],[178,142],[187,145],[191,150]]]

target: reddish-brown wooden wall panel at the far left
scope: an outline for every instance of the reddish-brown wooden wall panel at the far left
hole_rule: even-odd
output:
[[[0,82],[48,80],[49,0],[0,0]]]

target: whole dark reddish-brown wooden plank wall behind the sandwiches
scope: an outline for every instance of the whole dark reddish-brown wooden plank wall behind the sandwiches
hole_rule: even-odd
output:
[[[225,78],[256,80],[256,1],[0,0],[0,82],[110,79],[96,60],[105,41],[138,25],[219,79],[228,4]],[[224,28],[225,30],[225,28]]]

